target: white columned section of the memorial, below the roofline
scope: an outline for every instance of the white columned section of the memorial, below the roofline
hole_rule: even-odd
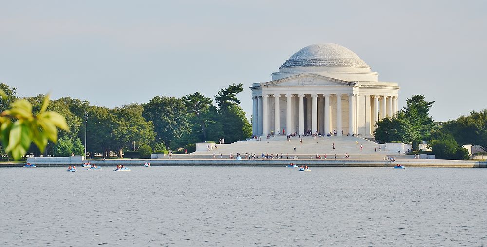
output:
[[[296,98],[298,98],[298,102],[296,102]],[[281,112],[284,107],[281,107],[280,101],[284,101],[284,99],[286,102],[285,111]],[[342,101],[348,101],[348,109],[343,109]],[[298,106],[296,107],[296,105]],[[271,112],[272,106],[274,106],[274,112]],[[345,104],[345,106],[347,105]],[[275,134],[278,132],[282,134],[284,129],[286,134],[295,131],[302,134],[310,129],[312,133],[318,131],[328,133],[336,130],[338,134],[341,134],[343,130],[344,133],[350,135],[370,136],[375,122],[384,117],[391,117],[397,111],[397,96],[357,95],[353,93],[263,94],[253,97],[252,132],[256,135],[267,135],[272,130]],[[321,114],[321,112],[323,113]],[[335,113],[334,118],[333,112]],[[348,117],[342,115],[343,113],[348,113]],[[282,121],[282,124],[281,114],[285,115],[285,121]],[[298,114],[297,121],[295,121],[296,114]],[[272,115],[274,115],[273,126],[271,126]],[[347,129],[343,129],[344,117],[348,120]]]

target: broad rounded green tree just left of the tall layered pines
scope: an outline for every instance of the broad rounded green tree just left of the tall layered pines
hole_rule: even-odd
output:
[[[164,142],[171,148],[173,141],[189,133],[187,110],[182,99],[156,96],[142,106],[142,116],[154,124],[157,142]]]

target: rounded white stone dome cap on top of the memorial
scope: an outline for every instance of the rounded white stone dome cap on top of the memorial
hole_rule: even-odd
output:
[[[346,47],[333,43],[318,43],[294,53],[280,69],[309,66],[370,68],[357,54]]]

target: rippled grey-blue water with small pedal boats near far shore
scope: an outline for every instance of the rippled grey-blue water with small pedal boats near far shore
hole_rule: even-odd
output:
[[[486,246],[487,169],[0,168],[0,246]]]

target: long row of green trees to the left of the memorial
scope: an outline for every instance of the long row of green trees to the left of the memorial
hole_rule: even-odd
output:
[[[8,109],[19,99],[17,89],[0,83],[5,97],[0,99],[0,111]],[[108,157],[111,152],[122,158],[125,151],[195,150],[196,142],[225,142],[245,140],[252,134],[252,126],[239,106],[237,94],[243,84],[231,84],[217,92],[213,99],[199,92],[181,98],[156,96],[147,103],[131,103],[122,107],[93,106],[86,100],[62,97],[53,100],[47,110],[66,119],[67,129],[59,130],[57,142],[47,141],[41,150],[30,144],[26,153],[34,156],[69,156],[84,154],[85,114],[87,151],[89,156]],[[38,114],[45,95],[25,97]],[[4,148],[2,148],[2,152]],[[150,151],[148,151],[150,150]],[[5,153],[1,154],[5,156]]]

